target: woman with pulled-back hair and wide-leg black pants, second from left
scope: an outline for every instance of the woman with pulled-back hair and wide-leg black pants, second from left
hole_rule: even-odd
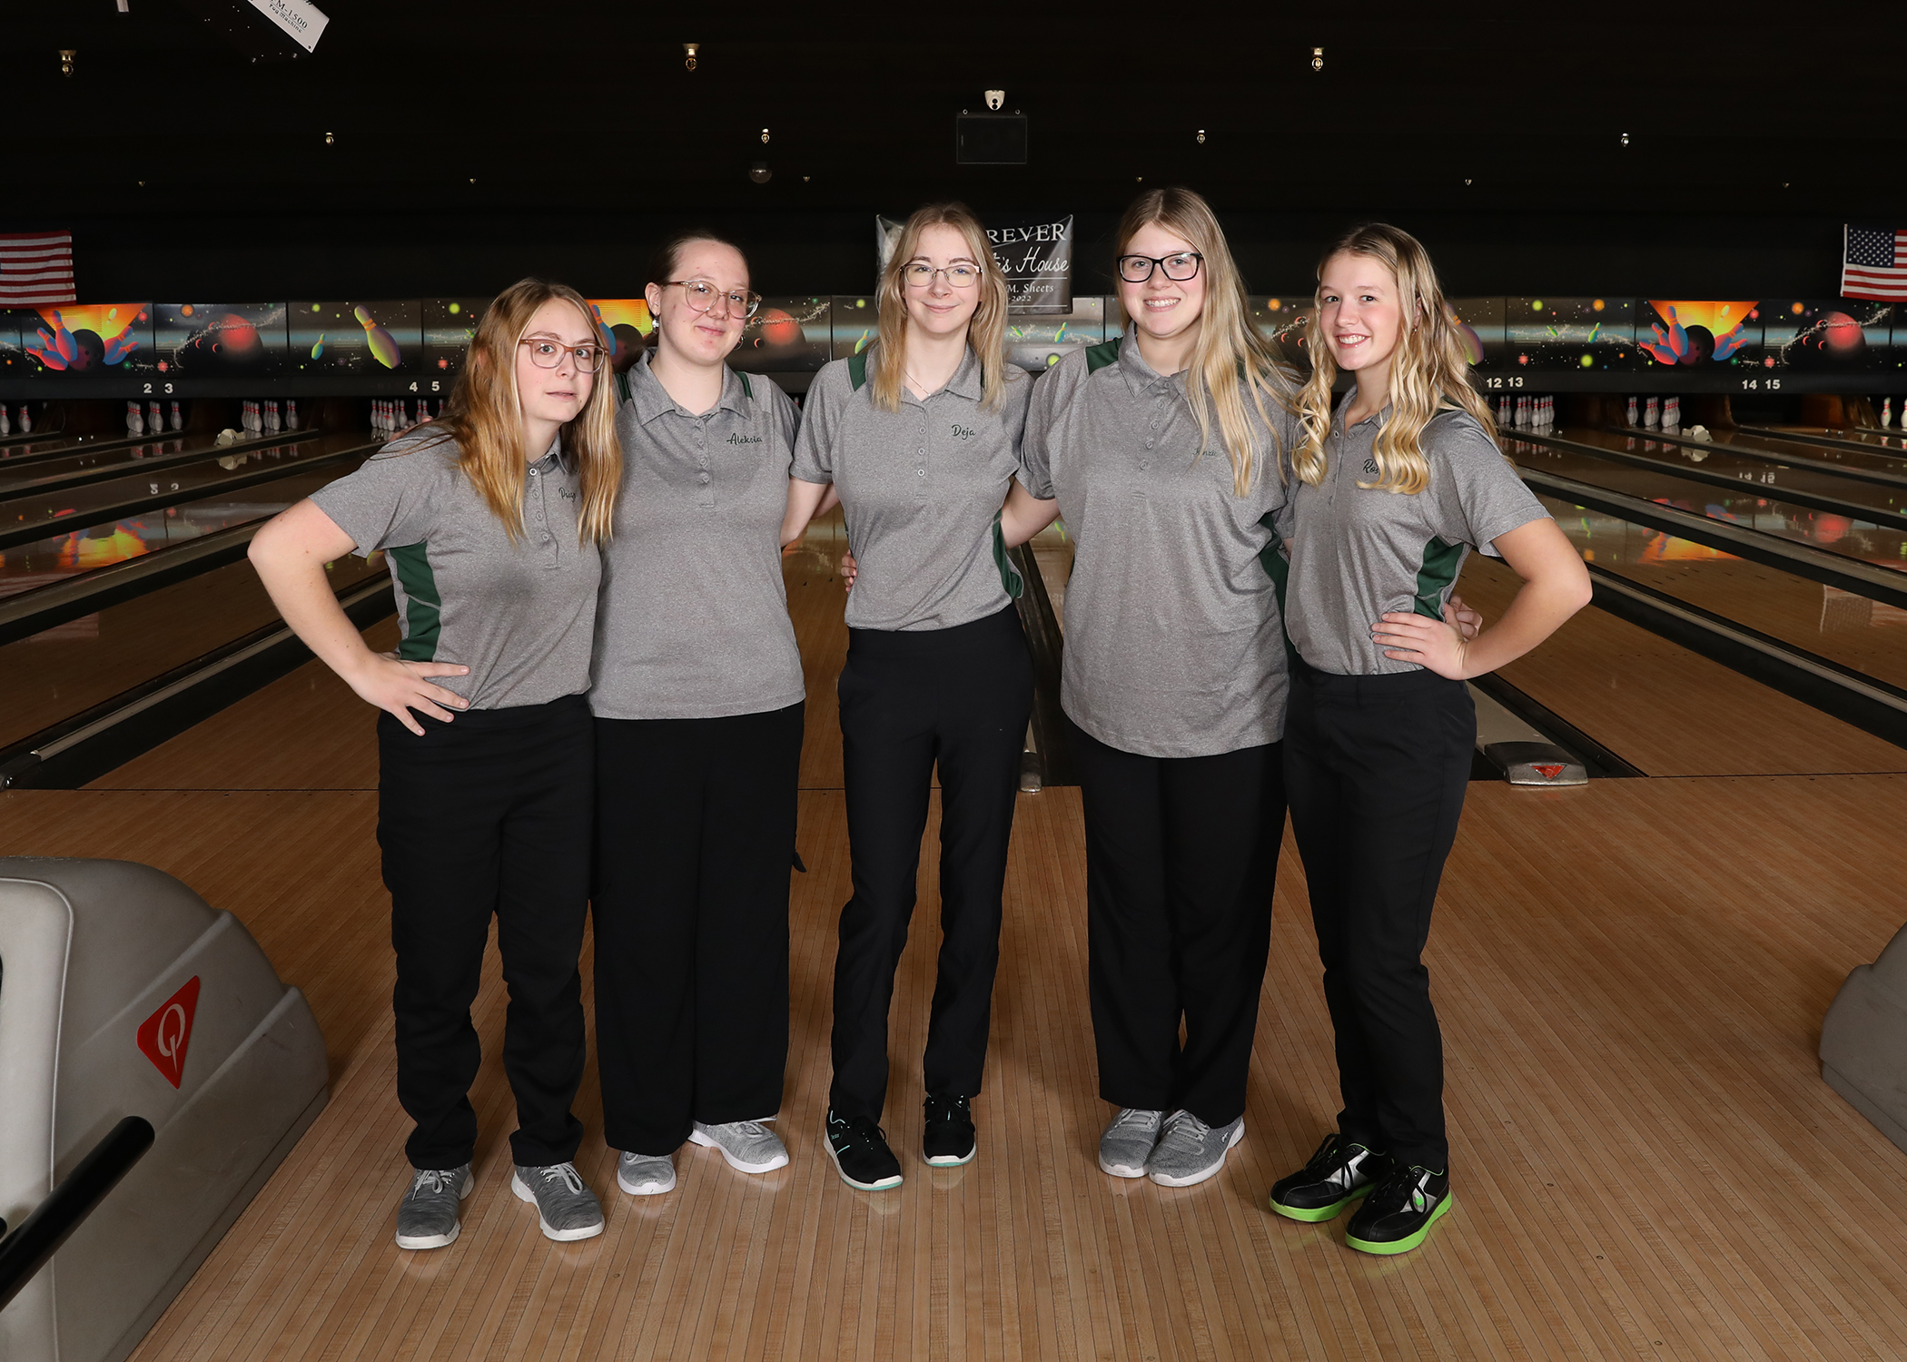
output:
[[[805,694],[780,544],[795,404],[727,364],[761,303],[748,259],[690,233],[646,292],[589,691],[603,1135],[633,1196],[675,1187],[685,1139],[744,1173],[788,1164],[769,1122]]]

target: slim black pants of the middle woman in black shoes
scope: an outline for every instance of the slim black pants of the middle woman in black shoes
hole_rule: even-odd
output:
[[[980,1093],[1034,666],[1009,605],[952,629],[851,629],[839,692],[854,897],[841,910],[828,1101],[877,1122],[934,763],[942,939],[925,1078],[929,1093]]]

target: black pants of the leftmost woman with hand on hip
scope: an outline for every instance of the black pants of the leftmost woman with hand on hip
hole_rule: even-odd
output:
[[[469,1087],[482,1055],[471,1001],[496,918],[509,1009],[503,1072],[517,1099],[517,1164],[566,1164],[584,1076],[576,960],[589,906],[595,736],[580,694],[509,710],[420,715],[423,736],[378,717],[378,845],[397,948],[397,1101],[416,1122],[412,1167],[458,1167],[477,1148]]]

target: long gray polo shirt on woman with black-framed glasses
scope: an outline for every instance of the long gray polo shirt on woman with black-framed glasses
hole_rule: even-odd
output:
[[[1074,536],[1060,704],[1121,752],[1209,757],[1283,736],[1285,639],[1259,555],[1295,418],[1268,404],[1264,429],[1245,410],[1264,465],[1238,496],[1224,446],[1200,450],[1184,374],[1154,372],[1131,330],[1034,389],[1026,490],[1056,496]]]

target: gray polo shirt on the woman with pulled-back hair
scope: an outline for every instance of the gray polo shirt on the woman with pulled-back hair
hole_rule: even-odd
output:
[[[782,584],[795,404],[723,376],[696,416],[645,355],[616,412],[622,496],[603,547],[589,708],[605,719],[723,719],[803,698]]]

